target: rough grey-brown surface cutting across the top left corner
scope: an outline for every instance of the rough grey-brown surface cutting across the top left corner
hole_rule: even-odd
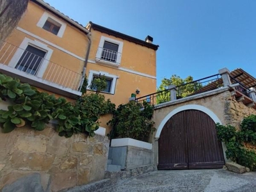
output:
[[[26,11],[29,0],[0,1],[0,46],[12,30],[17,26],[22,14]]]

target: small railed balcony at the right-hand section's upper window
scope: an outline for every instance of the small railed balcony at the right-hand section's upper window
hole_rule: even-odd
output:
[[[109,65],[111,67],[119,67],[121,60],[121,53],[106,49],[103,47],[98,47],[95,60],[98,63]]]

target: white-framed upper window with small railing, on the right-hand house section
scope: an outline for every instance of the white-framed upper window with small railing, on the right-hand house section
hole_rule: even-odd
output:
[[[116,66],[120,65],[123,44],[123,42],[118,40],[101,36],[96,61],[102,61]]]

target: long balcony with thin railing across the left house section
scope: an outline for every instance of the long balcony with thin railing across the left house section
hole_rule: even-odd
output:
[[[0,72],[58,95],[72,99],[81,96],[81,74],[8,42],[0,48]]]

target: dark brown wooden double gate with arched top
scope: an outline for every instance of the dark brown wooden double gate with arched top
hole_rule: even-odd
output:
[[[202,111],[173,115],[158,141],[158,170],[222,168],[225,164],[215,123]]]

